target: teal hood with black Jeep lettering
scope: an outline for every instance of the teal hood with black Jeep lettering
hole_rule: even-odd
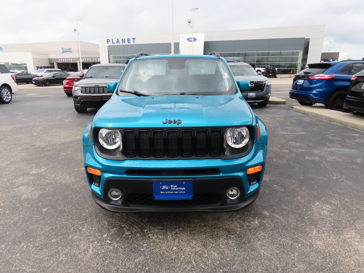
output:
[[[181,120],[181,123],[168,123],[168,120]],[[252,123],[248,103],[237,94],[140,97],[114,94],[94,118],[95,126],[114,128],[238,126]]]

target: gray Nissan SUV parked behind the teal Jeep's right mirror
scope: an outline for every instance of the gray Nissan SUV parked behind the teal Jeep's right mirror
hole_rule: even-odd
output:
[[[268,78],[260,75],[261,73],[255,71],[248,63],[228,61],[228,64],[236,81],[250,81],[249,91],[241,92],[244,99],[248,103],[258,103],[260,106],[266,106],[270,98],[271,88]]]

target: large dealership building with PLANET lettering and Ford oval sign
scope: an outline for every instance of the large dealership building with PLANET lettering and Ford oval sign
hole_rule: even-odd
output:
[[[325,25],[211,31],[193,37],[175,33],[174,54],[217,51],[227,60],[275,66],[280,74],[295,74],[309,63],[320,62],[324,34]],[[99,47],[101,63],[127,63],[138,52],[171,54],[171,34],[102,36]]]

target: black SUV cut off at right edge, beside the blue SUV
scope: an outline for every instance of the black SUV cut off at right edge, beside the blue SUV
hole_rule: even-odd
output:
[[[353,114],[364,114],[364,70],[353,75],[350,81],[348,95],[344,100],[344,108],[352,110]]]

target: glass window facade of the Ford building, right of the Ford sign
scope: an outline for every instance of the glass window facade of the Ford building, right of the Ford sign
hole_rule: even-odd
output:
[[[204,54],[208,54],[204,53]],[[278,74],[296,74],[301,70],[302,51],[220,52],[226,60],[241,60],[255,67],[274,66]]]

